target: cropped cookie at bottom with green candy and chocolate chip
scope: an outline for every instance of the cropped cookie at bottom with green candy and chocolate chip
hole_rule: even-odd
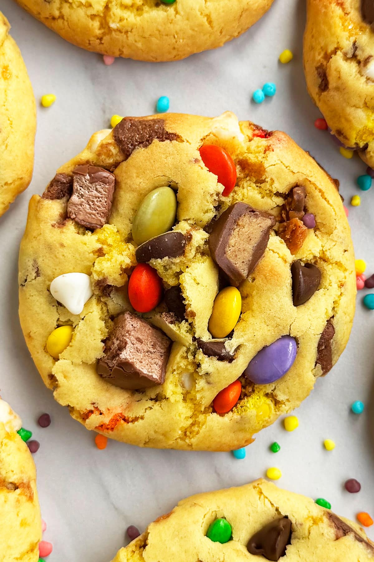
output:
[[[356,523],[259,479],[182,500],[113,562],[177,559],[367,562],[374,560],[374,543]]]

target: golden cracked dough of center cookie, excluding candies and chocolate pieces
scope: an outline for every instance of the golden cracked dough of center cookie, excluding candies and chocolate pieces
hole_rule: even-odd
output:
[[[20,248],[21,327],[44,383],[87,429],[133,445],[229,451],[251,443],[254,433],[308,396],[322,374],[317,347],[331,318],[332,364],[344,350],[355,306],[349,225],[333,180],[286,134],[266,132],[250,121],[238,125],[230,112],[215,119],[165,114],[132,122],[153,119],[163,119],[165,130],[176,140],[153,140],[123,161],[113,132],[104,130],[58,170],[71,174],[76,165],[90,163],[114,172],[109,225],[90,232],[67,219],[67,197],[31,198]],[[229,197],[221,196],[223,186],[201,161],[198,148],[203,141],[224,147],[236,163],[237,185]],[[191,243],[184,257],[153,260],[152,265],[166,286],[181,284],[188,321],[170,327],[157,309],[143,315],[174,343],[164,384],[127,391],[99,377],[96,362],[104,355],[103,342],[113,318],[131,310],[126,285],[136,264],[131,238],[135,212],[147,193],[168,183],[178,186],[178,230],[188,232]],[[238,350],[234,361],[228,364],[204,355],[194,338],[210,338],[207,324],[218,290],[218,270],[207,250],[204,227],[218,207],[221,212],[236,201],[279,217],[284,198],[295,185],[306,189],[316,229],[308,230],[295,255],[275,232],[270,235],[261,261],[239,285],[242,316],[227,343],[231,351]],[[322,280],[308,302],[294,307],[290,264],[297,259],[317,265]],[[94,285],[94,296],[76,316],[49,292],[52,280],[70,271],[91,275]],[[61,324],[74,325],[75,332],[56,361],[45,345]],[[228,414],[214,413],[212,401],[218,392],[241,377],[262,347],[284,334],[297,338],[299,346],[288,373],[275,383],[254,387],[242,378],[238,404]]]

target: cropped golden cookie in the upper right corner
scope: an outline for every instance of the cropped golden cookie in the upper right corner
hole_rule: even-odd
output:
[[[304,71],[332,133],[374,167],[374,31],[361,0],[308,0]]]

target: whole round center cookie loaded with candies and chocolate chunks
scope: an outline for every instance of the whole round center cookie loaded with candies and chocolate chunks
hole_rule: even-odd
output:
[[[20,320],[88,429],[231,450],[343,351],[352,241],[333,180],[287,135],[227,112],[123,119],[33,196]]]

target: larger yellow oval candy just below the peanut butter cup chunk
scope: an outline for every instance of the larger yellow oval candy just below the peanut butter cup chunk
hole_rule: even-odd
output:
[[[215,297],[208,329],[214,338],[225,338],[236,327],[242,297],[236,287],[225,287]]]

